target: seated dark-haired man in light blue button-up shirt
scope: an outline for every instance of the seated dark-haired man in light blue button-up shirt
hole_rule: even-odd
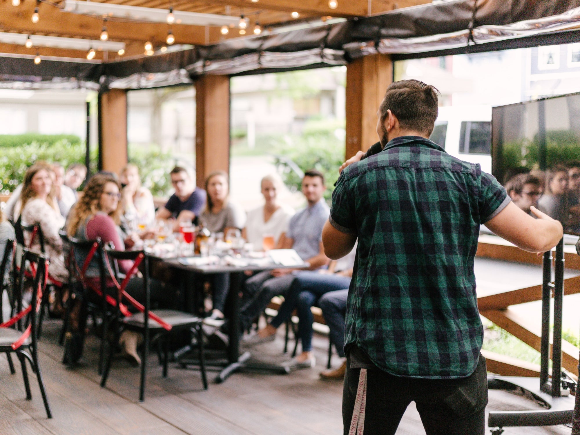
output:
[[[310,264],[309,270],[317,270],[328,264],[322,246],[322,227],[330,210],[322,195],[326,190],[324,176],[316,170],[307,171],[302,179],[302,193],[308,206],[296,213],[288,223],[288,233],[282,248],[295,249],[300,258]],[[285,296],[294,280],[291,269],[264,271],[249,278],[245,283],[244,298],[241,303],[240,326],[248,329],[270,299],[276,295]]]

